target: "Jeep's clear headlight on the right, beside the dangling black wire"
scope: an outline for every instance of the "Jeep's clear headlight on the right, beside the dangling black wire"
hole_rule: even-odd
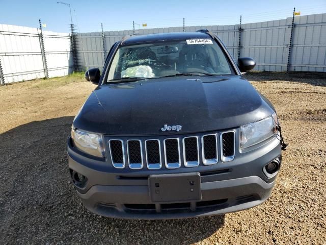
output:
[[[277,134],[277,115],[240,127],[240,148],[247,148]]]

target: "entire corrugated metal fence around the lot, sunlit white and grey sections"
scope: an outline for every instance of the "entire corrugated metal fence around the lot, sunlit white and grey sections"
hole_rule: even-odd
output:
[[[216,33],[234,59],[238,53],[240,57],[254,58],[255,70],[326,72],[326,14],[295,16],[293,25],[289,17],[241,27],[238,24],[185,27],[185,31],[199,29]],[[136,30],[135,34],[182,31],[183,27],[155,28]],[[77,34],[79,68],[101,68],[111,46],[130,34],[133,30]],[[43,40],[49,77],[64,76],[72,71],[69,34],[43,31]],[[45,77],[39,30],[0,25],[0,78],[1,64],[6,83]]]

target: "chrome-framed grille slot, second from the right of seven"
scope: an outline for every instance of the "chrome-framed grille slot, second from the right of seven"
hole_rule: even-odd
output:
[[[202,137],[203,164],[218,163],[218,138],[216,134],[207,134]]]

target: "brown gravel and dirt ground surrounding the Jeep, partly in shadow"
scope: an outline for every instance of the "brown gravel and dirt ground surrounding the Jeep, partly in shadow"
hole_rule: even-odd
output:
[[[0,87],[1,244],[326,244],[326,79],[251,74],[286,142],[271,197],[255,208],[184,220],[87,211],[70,183],[66,137],[95,88],[82,76]]]

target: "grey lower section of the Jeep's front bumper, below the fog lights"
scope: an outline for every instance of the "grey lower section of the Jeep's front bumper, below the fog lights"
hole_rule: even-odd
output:
[[[273,186],[274,182],[266,183],[257,176],[207,182],[201,184],[200,202],[156,205],[150,204],[148,186],[96,185],[85,194],[77,193],[87,209],[102,216],[173,219],[252,208],[268,199]]]

